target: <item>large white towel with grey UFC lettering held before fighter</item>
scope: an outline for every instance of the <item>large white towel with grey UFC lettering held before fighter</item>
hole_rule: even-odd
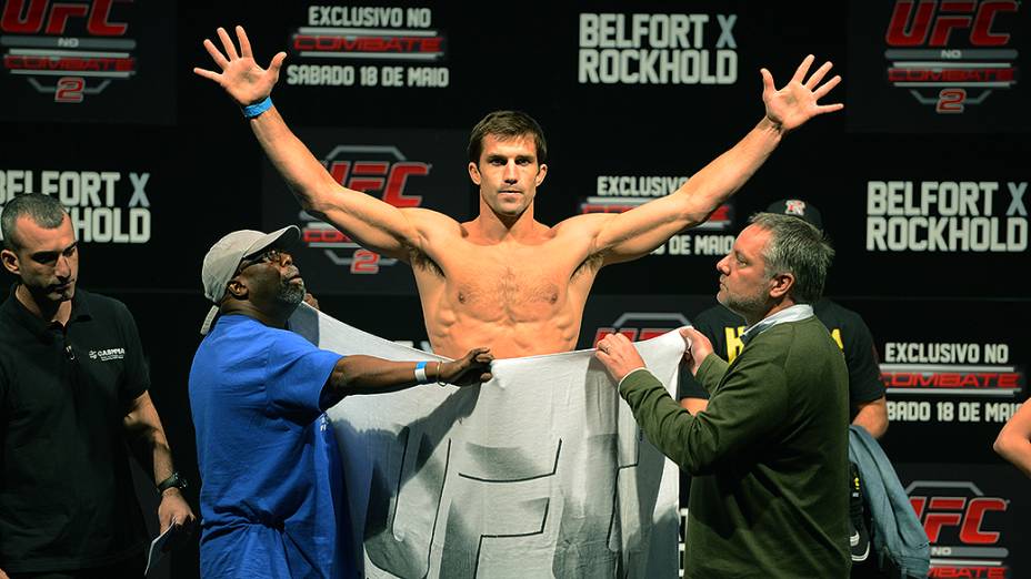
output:
[[[447,359],[304,306],[321,348]],[[683,339],[635,344],[670,389]],[[493,379],[351,396],[329,410],[364,577],[677,577],[679,473],[578,351],[496,360]]]

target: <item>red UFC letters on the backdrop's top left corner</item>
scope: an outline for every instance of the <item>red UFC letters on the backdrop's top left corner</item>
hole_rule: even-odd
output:
[[[48,0],[29,0],[28,9],[26,9],[26,0],[7,0],[7,3],[3,4],[3,17],[0,19],[0,30],[3,32],[36,34],[43,29],[43,21],[46,20],[44,34],[63,35],[70,19],[87,18],[86,30],[90,35],[120,37],[126,33],[129,24],[111,22],[111,4],[113,2],[114,0],[93,0],[92,6],[81,2],[54,2],[50,7],[48,14]],[[87,12],[89,12],[89,17],[87,17]]]

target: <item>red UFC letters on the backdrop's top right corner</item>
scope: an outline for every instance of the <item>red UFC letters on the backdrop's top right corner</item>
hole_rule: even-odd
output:
[[[885,40],[891,47],[947,47],[953,30],[969,29],[974,47],[1001,47],[1010,34],[993,32],[992,24],[1017,8],[1017,0],[898,0]]]

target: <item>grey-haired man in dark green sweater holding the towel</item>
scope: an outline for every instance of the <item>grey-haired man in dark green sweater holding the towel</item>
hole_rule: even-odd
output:
[[[721,304],[748,323],[728,365],[693,328],[685,363],[710,394],[691,415],[624,336],[598,358],[648,439],[693,475],[685,577],[848,577],[849,375],[811,304],[833,250],[802,220],[750,220],[720,271]]]

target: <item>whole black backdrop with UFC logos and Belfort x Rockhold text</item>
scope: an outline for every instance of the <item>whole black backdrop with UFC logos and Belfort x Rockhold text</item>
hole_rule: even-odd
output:
[[[933,530],[942,519],[932,514],[959,512],[959,527],[939,525],[937,546],[1004,549],[978,551],[1001,559],[977,565],[1002,561],[985,563],[982,576],[1025,572],[1017,521],[1027,480],[991,450],[1002,420],[1027,398],[1031,356],[1022,335],[1031,325],[1031,286],[1021,275],[1031,264],[1023,3],[0,6],[0,206],[42,191],[76,213],[80,281],[136,315],[152,395],[180,469],[194,481],[186,383],[207,309],[200,263],[223,234],[297,223],[308,235],[299,264],[326,312],[387,338],[426,341],[408,266],[364,254],[353,265],[357,247],[314,247],[347,242],[300,211],[239,109],[191,72],[214,68],[201,41],[217,39],[217,27],[244,26],[262,64],[288,53],[276,105],[340,180],[367,180],[371,194],[402,204],[421,197],[419,206],[458,220],[477,205],[467,134],[489,111],[521,109],[542,123],[550,155],[537,216],[553,224],[668,193],[761,119],[761,67],[782,84],[808,53],[832,60],[844,81],[828,101],[843,101],[844,111],[787,135],[704,227],[603,270],[580,346],[605,328],[641,338],[690,319],[713,303],[713,266],[748,215],[777,199],[805,199],[838,248],[828,294],[873,332],[891,387],[882,441],[903,484],[969,490],[945,490],[964,498],[962,508],[929,498],[921,520]],[[899,31],[892,22],[903,13]],[[373,265],[376,274],[351,273]],[[194,505],[197,489],[187,492]],[[1001,511],[978,497],[1009,502]],[[999,532],[997,544],[962,542],[970,505],[985,510],[970,518],[980,526],[967,538]],[[171,576],[196,577],[196,546],[177,552]],[[935,572],[952,572],[952,559]]]

